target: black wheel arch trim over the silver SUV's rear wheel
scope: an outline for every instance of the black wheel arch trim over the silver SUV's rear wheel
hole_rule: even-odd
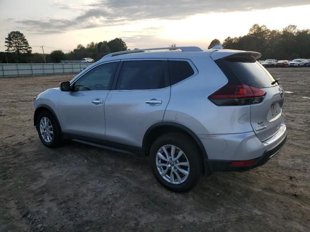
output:
[[[179,124],[179,123],[175,123],[175,122],[158,122],[155,123],[154,125],[152,125],[151,127],[149,127],[149,129],[145,132],[144,137],[143,137],[143,142],[142,142],[142,147],[145,149],[146,154],[148,154],[148,148],[147,148],[147,138],[150,135],[150,133],[158,127],[162,127],[162,126],[172,126],[175,127],[177,129],[180,129],[182,131],[185,131],[187,134],[189,134],[192,139],[194,139],[194,141],[197,143],[197,145],[199,146],[200,151],[202,152],[202,158],[203,158],[203,165],[204,165],[204,172],[206,170],[209,170],[210,173],[212,172],[212,167],[209,163],[209,158],[208,158],[208,154],[202,144],[202,141],[199,139],[199,137],[190,129],[188,129],[186,126]],[[210,173],[206,173],[205,174],[210,174]]]

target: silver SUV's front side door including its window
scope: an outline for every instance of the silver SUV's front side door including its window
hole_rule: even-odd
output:
[[[95,66],[73,83],[72,91],[61,93],[58,109],[63,132],[104,139],[104,103],[118,64]]]

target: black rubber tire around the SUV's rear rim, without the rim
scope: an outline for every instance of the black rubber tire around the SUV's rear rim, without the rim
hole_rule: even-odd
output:
[[[165,180],[157,170],[157,151],[164,145],[174,145],[180,148],[186,155],[189,163],[189,173],[184,182],[179,184],[170,183]],[[197,145],[192,141],[192,139],[184,133],[171,132],[157,138],[151,146],[149,161],[152,167],[153,174],[155,175],[157,181],[162,186],[171,191],[185,192],[190,190],[191,188],[194,188],[202,175],[201,153]]]

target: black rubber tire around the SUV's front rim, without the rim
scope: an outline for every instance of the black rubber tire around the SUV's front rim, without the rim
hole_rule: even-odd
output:
[[[53,137],[50,142],[46,142],[43,139],[42,134],[40,132],[40,121],[42,117],[47,117],[52,125]],[[62,146],[63,139],[62,139],[62,132],[61,132],[60,126],[58,125],[56,118],[53,116],[53,114],[50,111],[47,111],[47,110],[42,111],[39,114],[37,118],[37,122],[36,122],[36,129],[38,131],[40,140],[43,143],[43,145],[50,147],[50,148],[56,148],[56,147]]]

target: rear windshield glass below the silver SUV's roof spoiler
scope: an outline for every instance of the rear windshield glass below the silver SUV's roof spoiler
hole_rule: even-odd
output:
[[[275,79],[273,76],[259,63],[253,60],[240,59],[217,59],[218,67],[225,73],[230,83],[241,82],[244,85],[266,88],[278,85],[271,85]]]

